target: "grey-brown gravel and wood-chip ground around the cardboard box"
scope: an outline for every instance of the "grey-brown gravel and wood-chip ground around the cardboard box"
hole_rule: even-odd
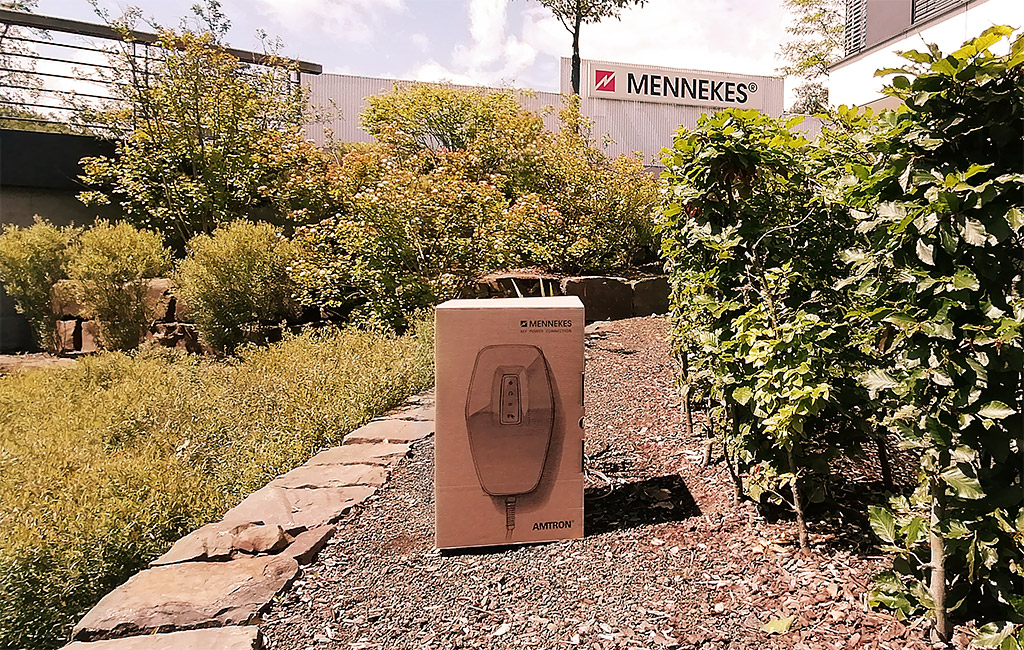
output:
[[[802,556],[792,523],[734,505],[724,468],[699,466],[663,318],[588,332],[584,539],[438,553],[423,441],[273,605],[268,647],[933,647],[865,609],[884,561],[856,534],[817,532]],[[762,631],[786,616],[787,634]]]

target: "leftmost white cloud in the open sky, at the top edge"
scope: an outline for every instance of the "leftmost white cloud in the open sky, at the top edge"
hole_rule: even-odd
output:
[[[386,14],[406,9],[404,0],[256,0],[261,10],[290,31],[334,33],[347,42],[370,43]]]

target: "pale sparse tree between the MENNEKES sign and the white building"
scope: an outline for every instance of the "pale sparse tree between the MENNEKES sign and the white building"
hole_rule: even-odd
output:
[[[778,71],[800,77],[794,113],[817,113],[828,106],[828,67],[843,55],[845,4],[843,0],[784,0],[792,20],[785,28],[792,37],[777,56],[785,61]]]

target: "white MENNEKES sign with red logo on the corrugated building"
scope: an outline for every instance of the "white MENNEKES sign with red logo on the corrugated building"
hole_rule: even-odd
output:
[[[764,78],[589,62],[588,95],[706,106],[763,109]]]

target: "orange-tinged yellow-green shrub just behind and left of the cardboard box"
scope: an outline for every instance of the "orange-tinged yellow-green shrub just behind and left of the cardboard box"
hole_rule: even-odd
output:
[[[489,270],[479,237],[500,219],[496,187],[449,167],[392,169],[351,200],[353,214],[300,228],[293,267],[303,302],[355,308],[353,317],[401,330],[415,310],[457,297]]]

